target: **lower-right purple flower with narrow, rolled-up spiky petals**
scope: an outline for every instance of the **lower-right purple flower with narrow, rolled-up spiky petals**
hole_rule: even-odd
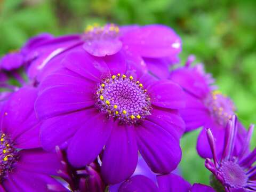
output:
[[[227,123],[222,156],[218,158],[214,134],[207,129],[207,138],[213,155],[213,162],[206,158],[205,166],[215,176],[212,185],[218,191],[256,191],[256,148],[250,153],[250,139],[253,125],[249,127],[245,142],[240,151],[235,151],[235,141],[238,136],[237,118],[232,116]],[[221,183],[221,184],[220,184]],[[222,189],[222,190],[221,190]]]

